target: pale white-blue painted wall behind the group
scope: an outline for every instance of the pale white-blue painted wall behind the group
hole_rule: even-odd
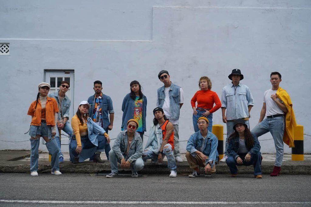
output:
[[[75,71],[74,111],[91,96],[93,81],[114,103],[114,138],[121,127],[123,97],[138,80],[148,99],[147,128],[156,104],[157,78],[168,70],[185,92],[179,136],[193,133],[190,99],[202,75],[211,78],[221,96],[228,75],[241,69],[253,93],[250,119],[259,119],[263,92],[271,88],[270,73],[282,74],[281,87],[290,94],[296,120],[311,134],[311,2],[292,1],[5,1],[0,0],[0,42],[10,43],[10,55],[0,55],[0,139],[22,141],[29,128],[27,110],[44,80],[44,69]],[[221,111],[214,124],[223,124]],[[260,139],[272,138],[270,134]],[[146,140],[146,138],[145,138]],[[185,152],[186,142],[180,145]],[[261,151],[274,153],[273,140]],[[305,137],[304,152],[311,153]],[[45,146],[40,146],[46,150]],[[30,149],[29,142],[2,142],[3,149]],[[285,153],[291,150],[285,146]]]

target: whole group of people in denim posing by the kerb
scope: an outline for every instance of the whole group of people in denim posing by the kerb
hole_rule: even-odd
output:
[[[65,94],[70,87],[69,83],[61,82],[59,91],[49,95],[49,83],[40,83],[37,99],[28,110],[28,115],[32,116],[29,130],[30,174],[38,175],[40,137],[45,140],[51,155],[52,174],[61,174],[59,163],[63,162],[63,154],[59,133],[63,130],[70,137],[69,154],[73,163],[86,159],[103,163],[100,153],[106,153],[111,165],[111,173],[107,178],[118,176],[118,163],[121,168],[131,169],[132,177],[138,177],[137,172],[143,169],[144,162],[151,159],[154,164],[162,164],[165,156],[170,170],[169,177],[176,177],[176,162],[183,162],[178,133],[183,89],[170,81],[169,72],[166,70],[161,70],[158,78],[163,86],[157,90],[153,125],[145,148],[143,135],[146,132],[147,98],[138,81],[130,83],[130,93],[123,99],[121,132],[112,148],[108,132],[113,128],[114,109],[111,98],[102,92],[102,82],[94,82],[95,94],[87,101],[81,101],[71,119],[71,126],[68,122],[71,101]],[[240,83],[244,76],[239,69],[232,70],[228,78],[232,82],[223,88],[221,101],[216,92],[211,91],[211,80],[206,76],[199,79],[200,90],[191,99],[195,133],[188,139],[186,147],[186,159],[193,169],[189,177],[199,176],[199,167],[204,167],[205,176],[210,177],[216,172],[215,165],[220,161],[227,163],[233,177],[237,176],[237,165],[253,164],[254,176],[262,178],[262,156],[258,137],[269,131],[276,147],[275,166],[270,175],[278,175],[283,158],[283,141],[290,147],[294,146],[293,127],[296,125],[290,97],[279,87],[281,74],[271,73],[272,89],[264,93],[260,119],[252,131],[248,123],[251,108],[254,106],[252,93],[246,85]],[[218,139],[212,133],[212,114],[219,108],[227,126],[225,156],[221,160],[217,152]]]

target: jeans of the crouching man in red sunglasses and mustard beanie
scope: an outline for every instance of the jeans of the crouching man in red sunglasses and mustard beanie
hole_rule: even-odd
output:
[[[123,155],[123,157],[125,159],[126,155]],[[121,163],[121,160],[118,158],[117,154],[113,150],[109,151],[109,162],[111,166],[111,172],[118,173],[118,163]],[[137,160],[132,161],[132,163],[130,164],[130,169],[134,173],[142,170],[143,168],[144,168],[144,161],[142,160],[142,157],[139,157]]]

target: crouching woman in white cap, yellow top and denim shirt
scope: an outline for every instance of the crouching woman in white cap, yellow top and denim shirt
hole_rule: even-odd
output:
[[[110,143],[110,138],[103,128],[97,125],[87,112],[90,104],[87,101],[81,101],[76,115],[71,119],[73,129],[72,139],[69,144],[70,160],[77,164],[94,156],[94,162],[103,163],[100,159],[100,153],[104,151],[106,142]]]

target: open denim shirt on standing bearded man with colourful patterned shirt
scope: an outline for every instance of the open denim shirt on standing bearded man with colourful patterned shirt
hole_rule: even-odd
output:
[[[90,96],[87,99],[87,102],[91,105],[91,108],[89,108],[89,116],[93,117],[93,110],[95,106],[95,94],[93,96]],[[108,113],[113,114],[114,108],[112,106],[111,98],[105,94],[103,94],[103,96],[101,97],[101,111],[102,111],[102,117],[103,117],[103,120],[102,120],[103,126],[104,126],[104,129],[106,129],[110,124]]]

